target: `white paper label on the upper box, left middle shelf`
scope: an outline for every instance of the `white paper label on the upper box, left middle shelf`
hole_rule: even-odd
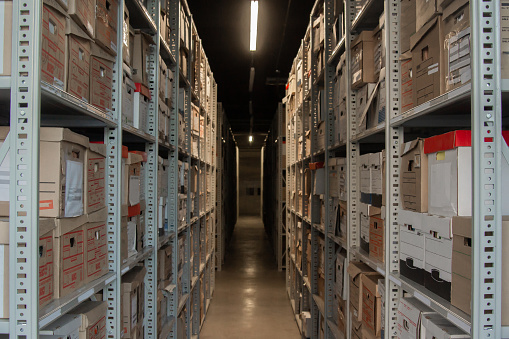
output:
[[[65,216],[77,217],[83,214],[83,163],[66,160],[65,174]]]

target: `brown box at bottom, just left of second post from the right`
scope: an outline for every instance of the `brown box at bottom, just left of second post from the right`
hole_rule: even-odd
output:
[[[381,334],[381,300],[378,292],[378,279],[380,274],[363,275],[362,280],[362,326],[380,337]]]

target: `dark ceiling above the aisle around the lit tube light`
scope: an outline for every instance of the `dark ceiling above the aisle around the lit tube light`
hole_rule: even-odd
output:
[[[268,77],[288,78],[293,59],[304,37],[312,0],[260,0],[253,132],[267,132],[285,94],[284,86],[268,86]],[[234,133],[249,132],[250,0],[188,0]],[[290,6],[286,30],[287,8]],[[283,31],[285,31],[283,40]],[[278,58],[279,56],[279,58]],[[279,60],[279,62],[278,62]],[[278,75],[277,70],[280,71]]]

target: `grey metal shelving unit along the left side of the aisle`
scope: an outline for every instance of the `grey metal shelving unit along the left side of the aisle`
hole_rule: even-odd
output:
[[[130,12],[130,24],[152,36],[154,44],[150,47],[147,59],[148,84],[151,99],[148,105],[147,131],[141,131],[122,122],[122,48],[118,48],[115,57],[112,80],[112,109],[105,112],[85,101],[68,94],[50,84],[41,82],[40,63],[42,36],[42,0],[13,1],[13,40],[19,41],[17,48],[12,52],[12,76],[0,79],[0,100],[2,103],[10,100],[10,127],[9,139],[4,142],[0,153],[2,158],[10,151],[12,182],[10,188],[10,201],[20,203],[10,204],[10,257],[19,258],[16,262],[11,260],[10,294],[16,296],[10,301],[10,315],[8,321],[0,321],[0,334],[10,334],[11,337],[36,338],[40,330],[58,319],[61,315],[71,312],[76,306],[100,291],[107,301],[106,332],[109,338],[120,338],[122,332],[120,299],[122,276],[139,264],[146,270],[144,281],[144,336],[145,338],[176,338],[180,327],[184,326],[188,337],[191,334],[199,335],[201,325],[210,300],[214,292],[215,262],[213,253],[216,252],[215,234],[216,219],[221,219],[221,210],[216,208],[216,176],[223,175],[222,169],[217,166],[216,140],[220,138],[217,133],[219,121],[217,110],[217,84],[210,70],[203,50],[195,46],[186,49],[188,63],[184,73],[180,63],[181,20],[189,23],[189,39],[193,35],[193,19],[187,3],[182,1],[148,0],[145,5],[140,0],[125,0],[118,3],[118,18],[116,26],[117,46],[122,46],[124,7]],[[181,16],[181,9],[185,16]],[[169,41],[159,31],[161,12],[170,15],[172,29]],[[199,38],[198,38],[199,41]],[[201,42],[198,44],[201,48]],[[201,52],[201,54],[200,54]],[[202,84],[195,83],[191,77],[192,61],[200,55],[200,61],[208,81]],[[166,66],[176,74],[171,86],[173,106],[171,107],[171,126],[169,140],[161,141],[158,135],[158,99],[159,99],[159,56]],[[184,76],[186,74],[186,76]],[[198,90],[199,87],[199,90]],[[186,125],[184,147],[179,147],[179,90],[183,88],[185,95],[183,116]],[[191,98],[196,92],[193,101],[198,104],[201,119],[204,121],[202,141],[198,142],[198,152],[192,154],[191,149]],[[222,113],[222,112],[221,112]],[[5,120],[5,121],[9,121]],[[56,126],[67,127],[79,131],[94,141],[103,141],[106,144],[106,208],[107,208],[107,239],[108,239],[108,269],[109,272],[102,277],[85,284],[82,288],[71,294],[55,299],[42,309],[38,307],[38,220],[39,220],[39,127]],[[122,262],[120,254],[121,206],[122,206],[122,145],[128,144],[130,149],[144,151],[147,154],[145,173],[145,238],[144,248],[127,261]],[[165,215],[167,216],[167,230],[162,232],[158,226],[159,197],[158,185],[158,158],[168,159],[168,203]],[[187,162],[190,166],[196,165],[202,170],[198,171],[197,180],[203,180],[202,194],[191,194],[188,190],[187,202],[191,206],[194,199],[194,211],[187,210],[188,227],[179,228],[178,221],[178,161]],[[191,184],[188,175],[188,184]],[[201,178],[200,178],[201,177]],[[14,178],[23,178],[22,181]],[[205,180],[209,178],[209,180]],[[201,213],[200,213],[201,212]],[[36,225],[25,227],[25,225]],[[184,225],[184,226],[185,226]],[[201,229],[200,229],[201,228]],[[177,283],[177,267],[179,259],[178,239],[180,231],[186,236],[184,272],[182,275],[183,295],[179,298],[179,284]],[[157,333],[158,313],[158,281],[157,281],[157,251],[164,245],[172,247],[173,281],[171,288],[164,292],[168,297],[168,319],[163,319],[162,332]],[[190,248],[193,245],[194,262],[190,263]],[[192,275],[191,273],[195,273]],[[193,283],[194,282],[194,283]],[[203,293],[200,293],[203,292]],[[204,295],[203,303],[191,304],[191,296]],[[194,307],[194,312],[192,308]],[[186,321],[179,322],[181,311],[186,309]],[[203,318],[199,319],[200,312]],[[191,313],[194,319],[191,322]]]

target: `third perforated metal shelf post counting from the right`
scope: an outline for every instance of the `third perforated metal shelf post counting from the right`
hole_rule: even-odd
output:
[[[348,176],[348,189],[347,189],[347,201],[348,201],[348,217],[347,217],[347,259],[348,262],[352,260],[352,247],[359,246],[359,233],[360,233],[360,220],[358,216],[358,206],[360,199],[360,174],[357,165],[359,159],[359,144],[353,141],[353,137],[357,134],[357,119],[356,119],[356,108],[357,103],[355,94],[352,92],[352,68],[350,65],[351,59],[351,44],[354,39],[354,35],[351,32],[352,21],[355,18],[355,0],[347,0],[346,4],[346,33],[345,33],[345,66],[347,71],[346,81],[346,164],[347,164],[347,176]],[[350,295],[349,284],[345,286],[347,295]],[[346,306],[346,331],[347,334],[351,333],[352,317],[350,313],[350,303]]]

